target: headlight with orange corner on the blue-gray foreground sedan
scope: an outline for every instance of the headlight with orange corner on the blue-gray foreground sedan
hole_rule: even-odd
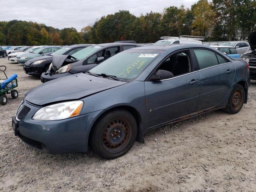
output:
[[[80,114],[84,102],[69,101],[40,108],[32,117],[34,120],[61,120]]]

